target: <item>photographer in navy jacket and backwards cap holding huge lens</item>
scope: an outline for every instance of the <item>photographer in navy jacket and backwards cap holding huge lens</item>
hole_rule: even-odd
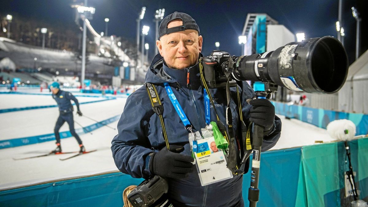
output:
[[[169,149],[163,137],[159,116],[153,112],[145,87],[132,93],[125,104],[118,122],[118,134],[112,140],[112,152],[117,168],[134,178],[150,178],[159,175],[169,184],[167,195],[173,206],[244,206],[241,175],[215,184],[201,186],[196,166],[191,162],[191,146],[188,141],[186,119],[181,119],[171,104],[168,90],[175,96],[185,112],[193,131],[201,131],[207,122],[205,118],[204,89],[199,80],[199,59],[202,50],[202,36],[194,19],[185,13],[173,13],[165,17],[159,27],[156,45],[158,55],[153,59],[146,74],[146,83],[156,86],[163,105],[163,120]],[[250,121],[265,127],[263,150],[270,149],[280,137],[281,122],[275,117],[275,109],[266,100],[252,100],[252,108],[246,100],[255,96],[244,81],[238,87],[241,91],[241,108],[245,124]],[[210,120],[216,120],[216,112],[222,123],[226,123],[226,90],[209,90],[215,103],[210,108]],[[236,97],[236,88],[231,88]],[[255,102],[253,102],[255,101]],[[237,103],[231,99],[233,129],[238,136]],[[216,111],[214,108],[216,108]],[[253,115],[251,111],[256,109]],[[259,110],[261,109],[261,112]],[[248,161],[249,163],[249,161]],[[219,193],[221,197],[218,197]]]

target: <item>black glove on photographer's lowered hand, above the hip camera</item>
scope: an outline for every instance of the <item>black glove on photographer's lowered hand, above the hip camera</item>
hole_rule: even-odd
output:
[[[185,178],[192,172],[194,159],[191,156],[179,154],[184,150],[183,146],[169,145],[161,151],[151,155],[149,170],[154,175],[167,178]]]

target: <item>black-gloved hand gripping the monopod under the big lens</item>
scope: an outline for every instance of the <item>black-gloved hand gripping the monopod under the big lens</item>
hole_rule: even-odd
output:
[[[249,104],[252,105],[249,120],[263,126],[265,135],[268,135],[275,122],[275,106],[269,100],[262,98],[252,99]]]

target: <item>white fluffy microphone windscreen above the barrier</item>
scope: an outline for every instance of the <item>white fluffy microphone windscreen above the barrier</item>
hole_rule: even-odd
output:
[[[327,125],[327,132],[331,138],[346,141],[351,140],[356,133],[355,124],[347,119],[339,119]]]

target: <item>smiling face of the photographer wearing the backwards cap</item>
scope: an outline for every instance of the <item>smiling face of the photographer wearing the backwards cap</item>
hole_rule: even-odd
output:
[[[173,20],[167,28],[180,25],[183,25],[181,20]],[[198,36],[198,32],[194,29],[186,29],[163,35],[156,41],[156,46],[168,67],[184,69],[197,63],[202,50],[202,36]]]

